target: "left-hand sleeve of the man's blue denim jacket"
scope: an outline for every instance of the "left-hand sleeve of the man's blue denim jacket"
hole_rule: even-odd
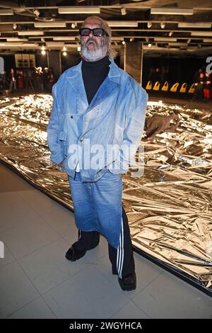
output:
[[[49,124],[47,126],[47,142],[52,153],[50,159],[52,162],[59,164],[64,156],[61,151],[61,145],[59,145],[59,105],[57,101],[57,85],[54,84],[52,88],[52,96],[53,96],[53,106],[52,112],[49,119]]]

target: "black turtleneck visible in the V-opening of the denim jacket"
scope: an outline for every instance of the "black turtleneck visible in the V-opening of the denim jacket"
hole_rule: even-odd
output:
[[[93,96],[98,91],[100,85],[107,77],[109,72],[110,60],[107,57],[95,62],[82,61],[83,82],[86,89],[88,104],[93,99]]]

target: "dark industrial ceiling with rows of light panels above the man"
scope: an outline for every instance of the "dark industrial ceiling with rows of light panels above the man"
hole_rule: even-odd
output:
[[[211,0],[1,0],[0,52],[77,50],[90,15],[107,21],[117,50],[142,42],[146,53],[212,54]]]

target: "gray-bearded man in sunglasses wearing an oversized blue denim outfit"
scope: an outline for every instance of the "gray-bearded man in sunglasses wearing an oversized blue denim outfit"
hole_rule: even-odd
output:
[[[108,242],[112,273],[122,290],[134,290],[136,273],[122,207],[122,174],[134,162],[126,152],[136,152],[141,140],[147,94],[114,63],[111,30],[102,18],[86,18],[79,33],[82,60],[53,86],[47,130],[51,159],[69,176],[78,227],[78,240],[66,252],[66,259],[81,259],[98,246],[102,234]],[[118,147],[117,152],[103,158],[109,145]],[[88,168],[94,147],[102,147],[100,161]]]

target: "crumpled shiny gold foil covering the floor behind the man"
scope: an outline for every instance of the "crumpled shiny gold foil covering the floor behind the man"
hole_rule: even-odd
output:
[[[1,99],[0,159],[73,210],[67,176],[49,159],[51,107],[45,94]],[[175,132],[143,141],[143,176],[123,176],[123,205],[136,250],[212,295],[212,112],[148,102],[148,116],[173,111]]]

